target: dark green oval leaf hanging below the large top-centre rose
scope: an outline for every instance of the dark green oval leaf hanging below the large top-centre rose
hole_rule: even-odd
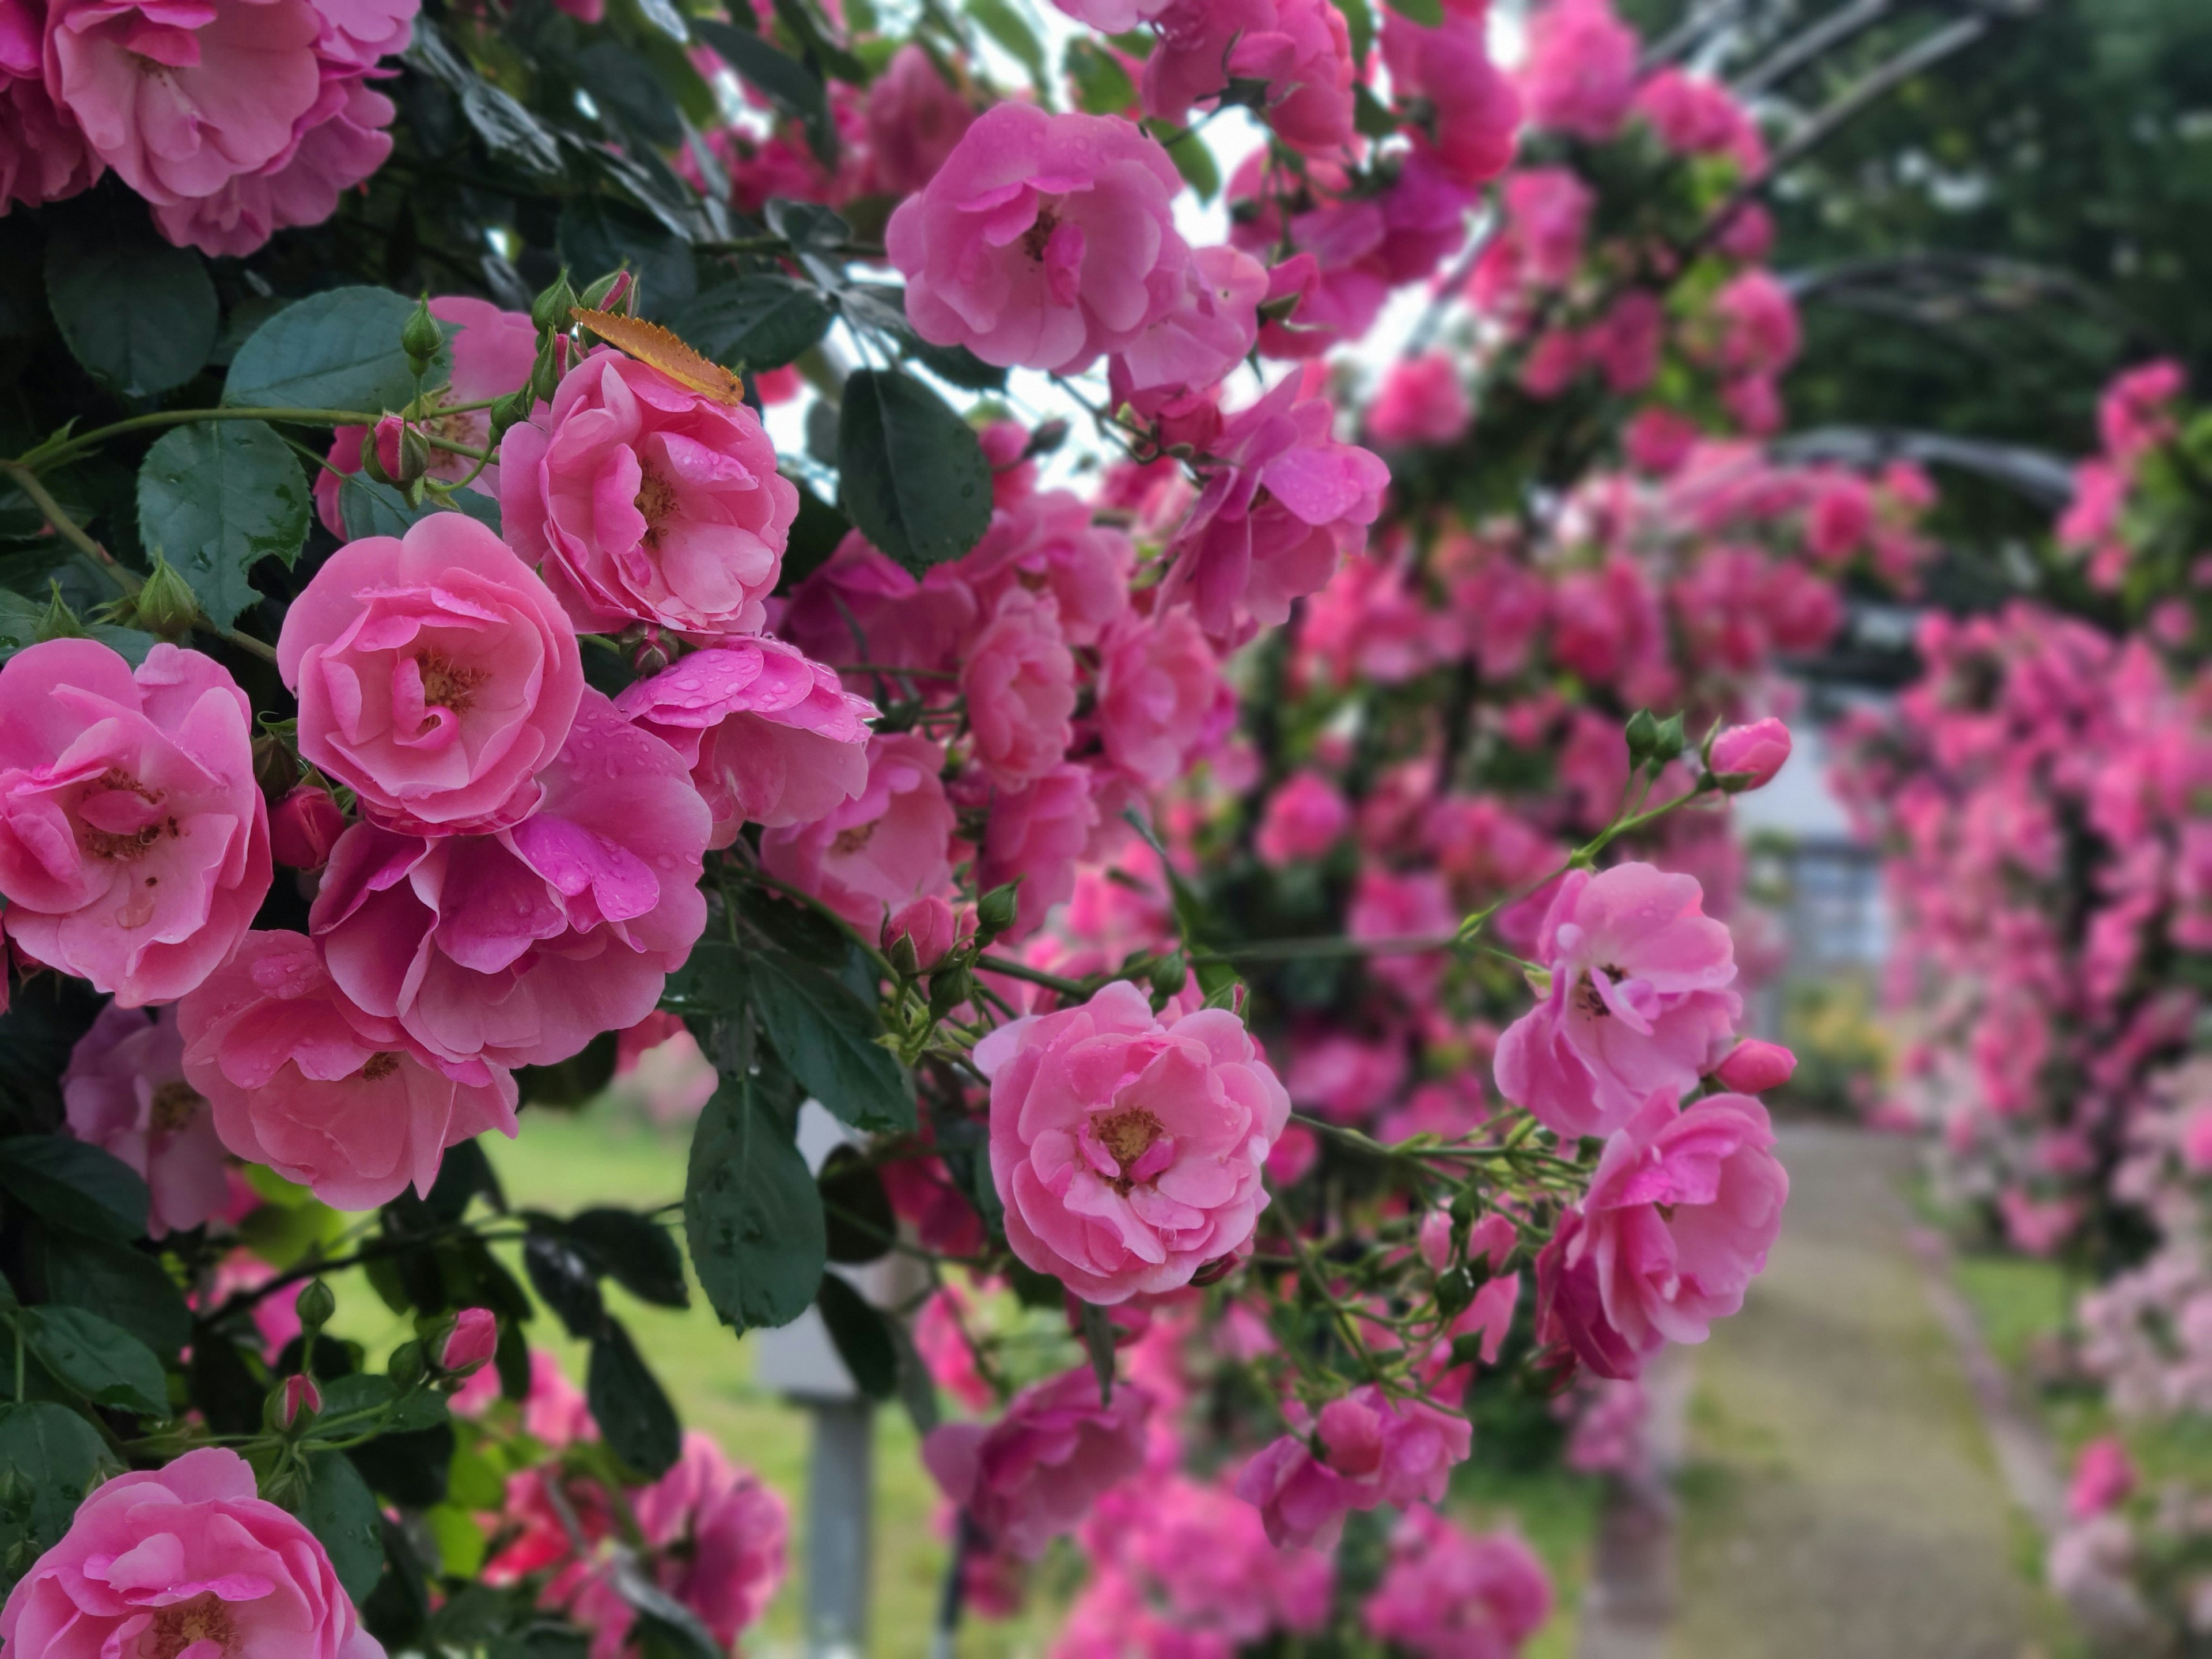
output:
[[[845,380],[838,462],[852,522],[916,575],[991,529],[991,462],[975,431],[911,374]]]

